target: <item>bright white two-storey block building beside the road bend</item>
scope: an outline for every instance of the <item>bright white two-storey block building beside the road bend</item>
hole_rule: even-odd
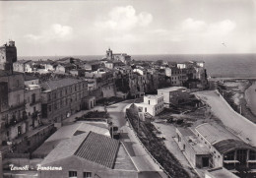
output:
[[[136,105],[141,112],[156,116],[163,110],[163,96],[145,95],[144,102],[137,103]]]

